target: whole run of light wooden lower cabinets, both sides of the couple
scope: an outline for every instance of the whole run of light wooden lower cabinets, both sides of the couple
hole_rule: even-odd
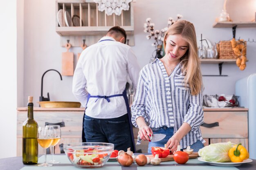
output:
[[[59,144],[82,142],[84,108],[34,108],[34,119],[38,126],[45,122],[64,122],[61,127],[61,141],[55,147],[55,153],[60,153]],[[17,116],[17,156],[22,155],[22,124],[27,119],[27,108],[18,108]],[[218,122],[218,126],[206,128],[201,126],[205,146],[213,143],[231,141],[242,143],[248,150],[248,109],[247,108],[204,108],[204,123]],[[134,141],[137,142],[138,128],[133,128]],[[141,141],[136,150],[148,151],[148,141]],[[38,146],[39,154],[43,148]]]

